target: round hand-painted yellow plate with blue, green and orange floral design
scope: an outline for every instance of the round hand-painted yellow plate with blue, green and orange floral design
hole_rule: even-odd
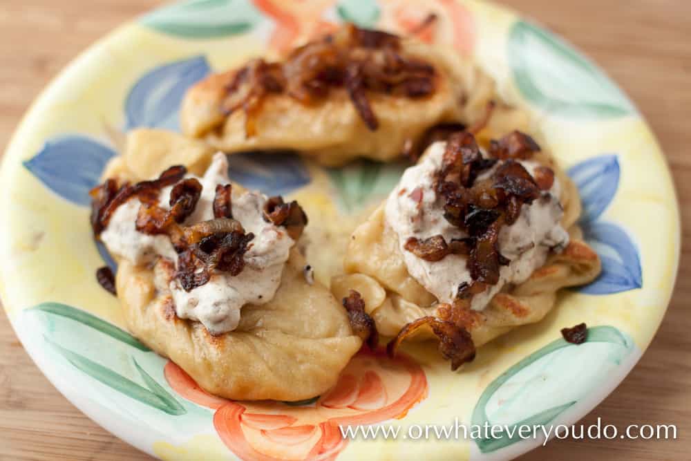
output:
[[[580,224],[603,274],[560,294],[540,323],[484,346],[448,371],[433,353],[391,360],[361,352],[312,402],[230,402],[204,393],[175,364],[122,329],[94,272],[113,264],[88,224],[87,191],[122,132],[178,129],[187,87],[212,69],[354,21],[473,55],[502,97],[525,106],[580,188]],[[232,178],[301,200],[312,217],[308,254],[325,277],[337,245],[395,184],[399,164],[322,169],[296,157],[232,156]],[[194,0],[127,24],[91,47],[32,106],[6,153],[0,205],[1,294],[41,370],[115,435],[166,460],[513,458],[542,440],[509,433],[470,440],[343,440],[337,424],[570,424],[611,392],[650,343],[672,292],[679,216],[665,160],[641,115],[585,57],[512,12],[454,0]],[[654,225],[652,225],[654,223]],[[331,227],[330,227],[331,226]],[[665,236],[665,238],[660,238]],[[319,273],[318,273],[319,276]],[[585,321],[585,344],[560,328]],[[424,361],[416,358],[424,357]],[[452,436],[453,437],[453,436]]]

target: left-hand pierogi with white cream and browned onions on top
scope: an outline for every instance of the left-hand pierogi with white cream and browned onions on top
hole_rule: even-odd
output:
[[[165,152],[174,148],[185,155]],[[205,173],[176,167],[137,182],[169,159]],[[320,395],[362,339],[341,303],[305,276],[295,245],[306,221],[299,205],[230,185],[225,155],[211,159],[200,142],[135,130],[106,169],[115,192],[105,191],[108,180],[95,189],[95,230],[118,262],[126,325],[215,395]]]

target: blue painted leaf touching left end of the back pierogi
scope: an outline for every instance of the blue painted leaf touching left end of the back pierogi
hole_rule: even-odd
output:
[[[204,56],[154,68],[134,84],[125,101],[127,129],[137,126],[180,130],[178,109],[187,88],[211,68]]]

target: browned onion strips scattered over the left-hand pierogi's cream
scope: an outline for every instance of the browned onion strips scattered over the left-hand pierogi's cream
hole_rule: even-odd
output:
[[[138,197],[141,205],[135,229],[144,234],[169,236],[178,254],[175,278],[189,292],[207,283],[213,270],[231,276],[240,274],[254,234],[245,234],[243,226],[231,218],[231,185],[216,187],[214,219],[182,225],[196,209],[202,193],[201,183],[196,178],[184,179],[185,173],[184,167],[171,167],[156,180],[138,182],[133,186],[125,184],[120,189],[117,189],[115,180],[108,179],[95,187],[90,195],[91,223],[96,236],[108,225],[117,207],[129,198]],[[171,185],[170,209],[164,209],[159,205],[160,189]],[[299,238],[307,224],[307,216],[300,205],[296,201],[283,203],[283,198],[276,197],[269,200],[268,206],[272,207],[269,211],[272,220],[280,221],[289,236]],[[97,279],[110,290],[105,270],[97,273]]]

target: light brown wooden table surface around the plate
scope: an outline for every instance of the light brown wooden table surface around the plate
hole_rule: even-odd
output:
[[[59,70],[153,0],[0,2],[0,146]],[[585,51],[638,104],[662,144],[681,200],[683,251],[662,326],[634,368],[583,423],[676,424],[678,440],[554,440],[522,460],[691,459],[691,2],[502,0]],[[3,149],[4,150],[4,149]],[[660,236],[667,238],[667,236]],[[686,310],[685,310],[686,309]],[[148,460],[62,397],[0,315],[0,460]]]

